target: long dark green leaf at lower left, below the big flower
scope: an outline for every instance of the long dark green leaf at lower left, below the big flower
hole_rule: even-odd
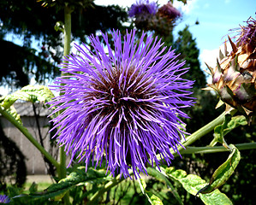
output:
[[[79,167],[74,172],[70,173],[67,178],[60,180],[57,184],[49,186],[43,192],[32,193],[30,196],[35,198],[51,198],[51,200],[58,201],[63,198],[68,190],[78,185],[90,181],[109,181],[110,177],[106,176],[105,170],[94,170],[89,168],[86,172],[85,167]]]

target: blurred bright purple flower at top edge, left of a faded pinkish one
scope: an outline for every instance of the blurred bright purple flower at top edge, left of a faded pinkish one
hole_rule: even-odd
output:
[[[130,17],[138,15],[155,15],[158,11],[158,4],[155,2],[149,3],[149,0],[139,0],[132,4],[128,15]]]

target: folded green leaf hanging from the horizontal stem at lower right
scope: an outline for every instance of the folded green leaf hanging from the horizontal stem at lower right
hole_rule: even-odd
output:
[[[235,167],[237,167],[241,155],[239,150],[235,145],[230,144],[229,147],[232,149],[229,158],[225,161],[217,170],[212,174],[209,185],[206,185],[198,193],[210,193],[212,190],[216,190],[229,179],[229,177],[234,173]]]

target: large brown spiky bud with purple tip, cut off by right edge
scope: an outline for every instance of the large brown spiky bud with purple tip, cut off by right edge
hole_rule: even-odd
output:
[[[221,102],[228,105],[226,110],[238,109],[247,116],[256,111],[256,20],[247,20],[247,26],[241,26],[240,36],[232,42],[232,51],[224,54],[220,50],[217,67],[207,66],[211,71],[211,89],[217,91]],[[220,103],[221,104],[221,103]],[[219,105],[219,104],[218,104]]]

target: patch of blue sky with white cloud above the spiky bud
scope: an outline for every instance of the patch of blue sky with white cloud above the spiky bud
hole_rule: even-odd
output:
[[[176,30],[181,30],[185,25],[193,25],[199,20],[198,26],[190,26],[190,32],[196,38],[200,50],[201,67],[205,68],[204,61],[215,66],[218,48],[223,44],[229,29],[246,25],[250,16],[255,18],[255,0],[192,0],[188,1],[188,9],[183,10],[183,20]]]

